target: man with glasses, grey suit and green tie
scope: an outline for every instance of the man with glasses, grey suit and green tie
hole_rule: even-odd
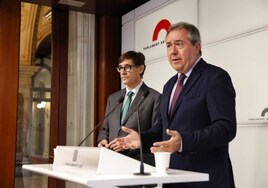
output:
[[[118,72],[122,83],[126,88],[111,94],[108,97],[106,114],[116,106],[118,99],[125,97],[123,103],[120,103],[112,113],[104,120],[102,129],[98,135],[98,147],[107,147],[114,151],[121,152],[129,157],[140,160],[139,149],[124,149],[117,143],[110,144],[115,138],[126,136],[121,130],[125,125],[135,131],[138,130],[138,118],[141,125],[141,131],[150,129],[155,123],[160,112],[161,94],[143,83],[142,78],[145,71],[145,56],[140,52],[128,51],[122,54],[118,62]],[[131,91],[131,105],[124,117],[122,111],[127,103],[127,93]],[[139,117],[137,117],[137,107],[139,105]],[[154,156],[147,149],[143,153],[144,162],[154,165]]]

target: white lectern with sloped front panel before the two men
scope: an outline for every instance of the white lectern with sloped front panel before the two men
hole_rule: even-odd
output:
[[[148,164],[144,164],[144,171],[151,175],[137,176],[134,173],[139,172],[140,161],[97,147],[57,146],[53,164],[23,165],[22,168],[92,188],[209,180],[206,173],[174,169],[169,169],[168,175],[159,176],[155,167]]]

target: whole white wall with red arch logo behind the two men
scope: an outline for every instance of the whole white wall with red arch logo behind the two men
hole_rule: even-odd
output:
[[[122,52],[145,54],[144,81],[160,92],[175,72],[161,43],[165,31],[151,39],[155,26],[167,19],[200,29],[203,58],[226,69],[237,92],[238,132],[230,155],[238,188],[268,187],[268,114],[261,116],[268,108],[267,7],[267,0],[151,0],[122,18]]]

